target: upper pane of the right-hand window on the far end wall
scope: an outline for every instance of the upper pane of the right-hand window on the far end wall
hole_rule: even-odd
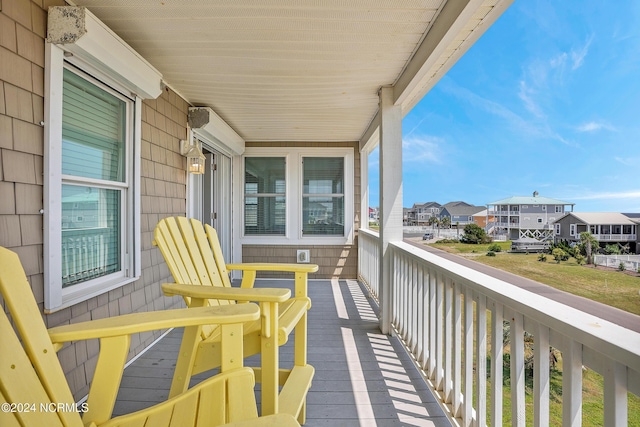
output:
[[[344,158],[305,157],[304,194],[344,193]]]

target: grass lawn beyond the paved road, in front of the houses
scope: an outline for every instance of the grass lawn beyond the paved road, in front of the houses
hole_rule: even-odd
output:
[[[510,247],[510,242],[498,244],[503,251]],[[473,254],[475,256],[470,259],[474,261],[640,315],[640,277],[637,276],[578,265],[573,258],[557,264],[548,254],[546,262],[538,261],[538,254],[499,252],[495,257],[488,257],[486,253],[489,245],[436,243],[432,246],[450,253],[466,255],[466,258]]]

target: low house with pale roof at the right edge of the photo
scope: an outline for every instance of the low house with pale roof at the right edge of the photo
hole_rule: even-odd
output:
[[[637,252],[638,224],[638,219],[617,212],[570,212],[553,223],[554,241],[578,242],[580,233],[589,232],[602,247],[619,243]]]

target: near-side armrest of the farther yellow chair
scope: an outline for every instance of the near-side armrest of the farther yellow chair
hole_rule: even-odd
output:
[[[162,291],[167,296],[180,295],[198,299],[224,299],[280,303],[291,298],[291,291],[284,288],[221,288],[216,286],[164,283],[162,285]]]

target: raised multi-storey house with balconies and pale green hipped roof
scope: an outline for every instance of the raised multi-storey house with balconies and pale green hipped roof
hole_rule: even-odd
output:
[[[516,196],[487,204],[488,214],[494,217],[493,235],[504,235],[509,240],[531,237],[537,240],[553,239],[553,222],[567,210],[573,211],[574,203],[542,197]]]

